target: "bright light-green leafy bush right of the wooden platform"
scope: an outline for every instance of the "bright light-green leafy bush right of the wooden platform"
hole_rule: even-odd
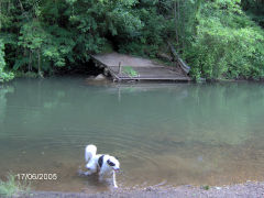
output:
[[[264,34],[233,1],[205,3],[195,41],[185,53],[195,78],[264,76]]]

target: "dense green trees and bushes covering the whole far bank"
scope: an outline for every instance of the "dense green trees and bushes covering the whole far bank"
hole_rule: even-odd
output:
[[[156,57],[168,41],[194,78],[261,78],[263,8],[263,0],[1,0],[0,78],[12,77],[4,66],[51,75],[112,50]]]

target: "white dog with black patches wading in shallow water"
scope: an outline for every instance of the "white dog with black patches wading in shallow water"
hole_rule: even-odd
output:
[[[86,146],[85,160],[87,172],[85,175],[91,175],[99,172],[99,180],[106,176],[112,175],[113,186],[117,188],[116,172],[120,169],[119,161],[108,154],[97,154],[97,147],[92,144]]]

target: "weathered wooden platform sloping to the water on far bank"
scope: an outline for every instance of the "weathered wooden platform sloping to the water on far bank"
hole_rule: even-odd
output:
[[[124,54],[91,55],[96,66],[105,68],[113,80],[176,80],[189,81],[188,68],[164,66],[153,61]]]

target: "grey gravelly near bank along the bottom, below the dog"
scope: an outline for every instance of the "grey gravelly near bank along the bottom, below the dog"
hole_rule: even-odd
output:
[[[195,186],[179,186],[176,188],[155,188],[148,187],[143,189],[117,189],[112,191],[98,194],[81,194],[81,193],[58,193],[58,191],[32,191],[29,195],[21,195],[20,198],[261,198],[264,197],[264,182],[246,182],[232,186],[222,187],[195,187]]]

